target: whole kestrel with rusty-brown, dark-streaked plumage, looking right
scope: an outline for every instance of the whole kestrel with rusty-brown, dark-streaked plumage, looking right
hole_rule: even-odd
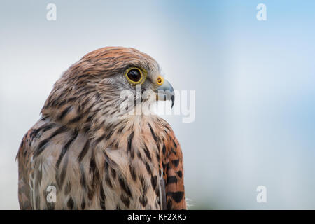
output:
[[[137,85],[174,92],[158,62],[134,48],[94,50],[63,73],[20,144],[20,209],[186,209],[172,128],[157,115],[121,109],[121,92],[137,98]]]

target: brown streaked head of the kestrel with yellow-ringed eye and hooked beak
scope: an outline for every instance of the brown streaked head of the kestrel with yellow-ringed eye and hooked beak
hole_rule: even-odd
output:
[[[102,118],[114,120],[123,115],[121,105],[126,99],[122,92],[131,92],[134,102],[141,97],[144,103],[148,98],[141,94],[146,91],[154,92],[157,100],[172,100],[173,106],[173,87],[161,75],[155,59],[134,48],[101,48],[87,53],[64,72],[41,113],[73,127],[87,121],[102,123]]]

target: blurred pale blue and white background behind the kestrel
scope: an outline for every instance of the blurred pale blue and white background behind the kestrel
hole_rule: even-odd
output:
[[[48,21],[48,3],[57,20]],[[267,20],[258,21],[258,3]],[[315,1],[0,1],[0,209],[18,209],[20,141],[85,53],[133,47],[196,118],[181,142],[189,209],[315,209]],[[178,103],[178,102],[176,102]],[[267,203],[258,203],[258,186]]]

